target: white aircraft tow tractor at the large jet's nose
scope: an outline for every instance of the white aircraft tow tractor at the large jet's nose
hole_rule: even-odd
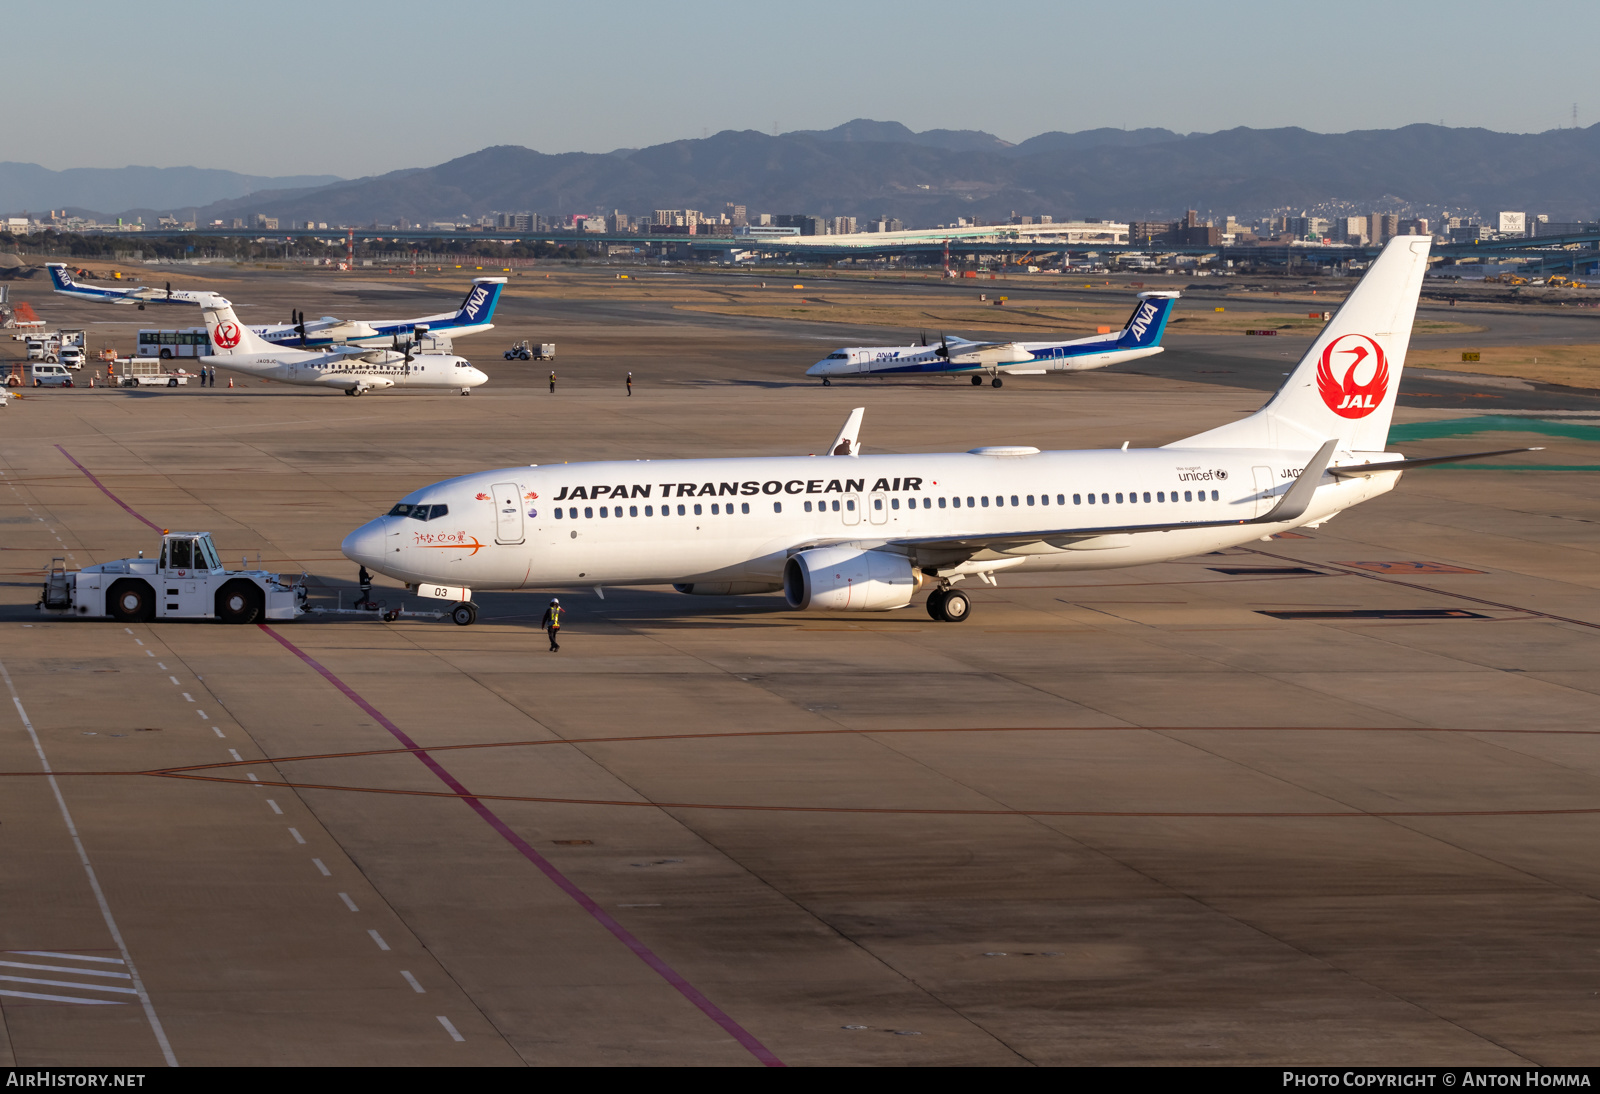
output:
[[[306,613],[306,577],[266,569],[224,569],[211,533],[162,533],[158,558],[118,558],[67,569],[53,558],[38,598],[42,611],[117,622],[214,619],[251,624]]]

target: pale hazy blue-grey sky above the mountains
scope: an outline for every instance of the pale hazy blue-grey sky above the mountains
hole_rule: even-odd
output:
[[[1584,0],[30,3],[0,158],[354,178],[858,117],[1528,133],[1600,122],[1597,29]]]

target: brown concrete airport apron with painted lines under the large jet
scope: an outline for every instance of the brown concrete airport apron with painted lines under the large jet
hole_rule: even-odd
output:
[[[309,291],[251,285],[264,310]],[[554,397],[498,360],[549,331]],[[808,453],[851,406],[867,451],[1157,445],[1282,371],[1210,339],[998,392],[798,379],[834,334],[512,297],[461,344],[493,377],[470,398],[0,411],[0,1064],[1589,1059],[1589,395],[1408,374],[1504,398],[1413,398],[1395,448],[1544,451],[1221,555],[1002,576],[958,625],[562,589],[549,654],[541,593],[483,593],[474,627],[32,606],[53,555],[152,550],[141,520],[349,603],[344,533],[453,473]]]

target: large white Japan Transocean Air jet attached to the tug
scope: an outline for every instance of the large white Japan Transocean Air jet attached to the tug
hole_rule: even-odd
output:
[[[352,561],[461,601],[472,589],[672,584],[782,590],[810,611],[971,611],[1002,571],[1171,561],[1318,526],[1413,467],[1386,449],[1429,240],[1398,237],[1272,400],[1163,448],[861,456],[856,409],[829,456],[506,467],[406,494],[350,533]],[[1502,449],[1525,451],[1525,449]]]

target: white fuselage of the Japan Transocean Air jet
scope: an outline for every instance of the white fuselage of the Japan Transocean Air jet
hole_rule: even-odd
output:
[[[507,467],[445,480],[346,537],[352,561],[408,584],[525,589],[782,581],[800,549],[918,537],[1056,534],[982,550],[966,573],[1109,569],[1186,558],[1320,523],[1394,488],[1398,473],[1326,477],[1283,525],[1067,539],[1069,529],[1250,520],[1310,453],[1155,448],[627,461]],[[1336,462],[1366,462],[1341,453]],[[440,512],[443,507],[443,512]]]

